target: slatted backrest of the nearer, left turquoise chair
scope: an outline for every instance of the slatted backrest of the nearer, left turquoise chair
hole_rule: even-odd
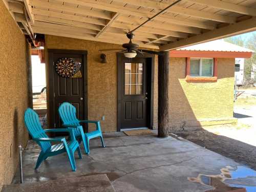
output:
[[[25,120],[25,125],[27,127],[27,130],[30,136],[32,137],[32,139],[42,138],[42,137],[48,138],[48,135],[45,133],[44,129],[42,129],[41,123],[39,121],[39,117],[34,110],[28,108],[25,111],[24,120]],[[42,151],[46,151],[48,150],[49,147],[51,147],[50,142],[37,142],[37,143],[40,145]]]

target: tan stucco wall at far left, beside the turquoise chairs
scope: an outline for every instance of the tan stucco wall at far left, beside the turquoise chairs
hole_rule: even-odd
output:
[[[25,147],[28,132],[24,111],[31,104],[30,50],[25,36],[0,1],[0,190],[9,184],[18,165],[18,144]],[[31,78],[30,78],[31,79]],[[32,96],[32,94],[31,94]]]

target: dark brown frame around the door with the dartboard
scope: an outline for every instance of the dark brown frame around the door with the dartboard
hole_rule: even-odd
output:
[[[53,54],[79,54],[83,57],[83,102],[84,102],[84,119],[88,119],[88,73],[87,73],[87,51],[83,50],[68,50],[68,49],[48,49],[48,83],[49,83],[49,99],[47,99],[47,106],[49,109],[47,110],[49,112],[50,117],[47,117],[47,120],[50,119],[49,127],[55,127],[55,118],[54,117],[54,110],[55,109],[55,103],[54,103],[54,60],[53,60]],[[47,92],[48,92],[47,90]],[[86,132],[88,132],[88,126],[85,127]]]

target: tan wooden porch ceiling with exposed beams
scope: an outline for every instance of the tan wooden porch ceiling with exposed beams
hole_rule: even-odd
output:
[[[4,0],[18,25],[114,44],[174,0]],[[24,14],[24,16],[23,16]],[[143,48],[172,50],[256,30],[256,0],[183,0],[135,32]],[[25,31],[28,33],[27,31]]]

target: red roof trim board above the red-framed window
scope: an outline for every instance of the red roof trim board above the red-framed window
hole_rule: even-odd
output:
[[[171,50],[170,57],[250,58],[251,52]]]

